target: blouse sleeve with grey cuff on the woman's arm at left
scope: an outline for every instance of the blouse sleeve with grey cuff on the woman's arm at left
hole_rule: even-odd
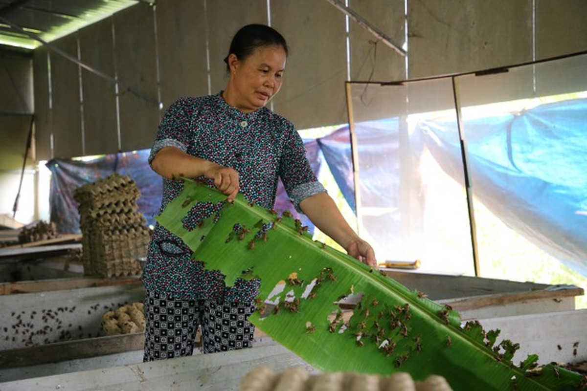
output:
[[[149,154],[151,164],[157,152],[165,147],[176,147],[187,151],[192,137],[191,118],[193,118],[193,98],[180,98],[167,108]]]

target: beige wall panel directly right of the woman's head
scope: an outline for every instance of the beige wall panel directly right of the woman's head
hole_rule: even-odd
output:
[[[290,47],[276,113],[298,129],[347,123],[345,15],[326,1],[280,0],[271,23]]]

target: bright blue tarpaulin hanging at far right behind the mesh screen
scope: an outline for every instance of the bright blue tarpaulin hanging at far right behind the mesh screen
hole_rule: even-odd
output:
[[[587,276],[587,99],[464,121],[463,128],[475,198]],[[462,184],[454,123],[427,121],[417,132],[444,171]]]

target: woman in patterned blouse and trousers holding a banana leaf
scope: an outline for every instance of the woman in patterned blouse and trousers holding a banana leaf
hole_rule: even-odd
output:
[[[161,209],[183,189],[173,178],[201,178],[234,200],[273,208],[278,178],[296,210],[357,259],[376,266],[373,249],[346,223],[316,180],[294,126],[265,106],[279,92],[288,46],[274,29],[248,25],[232,39],[225,58],[227,87],[214,96],[185,97],[161,120],[149,162],[164,178]],[[203,204],[188,220],[220,209]],[[143,272],[146,287],[144,361],[191,355],[198,325],[203,351],[252,346],[259,280],[237,280],[227,288],[219,271],[190,260],[191,251],[157,225]]]

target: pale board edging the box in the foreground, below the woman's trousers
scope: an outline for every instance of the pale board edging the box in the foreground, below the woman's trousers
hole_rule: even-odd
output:
[[[253,368],[266,365],[276,372],[301,366],[315,370],[281,345],[194,355],[170,360],[62,373],[0,383],[2,391],[29,390],[237,390]]]

